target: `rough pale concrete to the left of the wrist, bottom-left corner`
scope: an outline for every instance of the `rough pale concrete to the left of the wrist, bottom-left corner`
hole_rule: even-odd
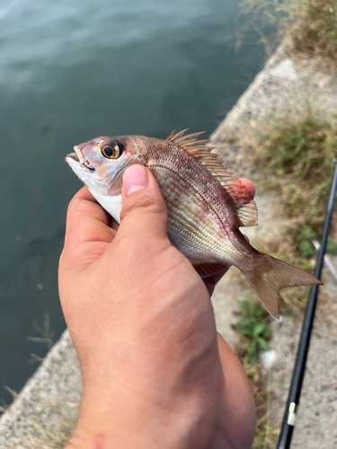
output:
[[[62,447],[80,399],[79,363],[66,330],[0,418],[0,449]]]

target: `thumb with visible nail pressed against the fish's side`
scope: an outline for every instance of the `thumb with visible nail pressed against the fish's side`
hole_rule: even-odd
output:
[[[131,165],[123,175],[118,236],[168,240],[167,220],[167,208],[154,175],[143,165]]]

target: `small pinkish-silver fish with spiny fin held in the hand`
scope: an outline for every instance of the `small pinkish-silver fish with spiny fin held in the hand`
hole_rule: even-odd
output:
[[[134,163],[155,176],[168,211],[170,242],[201,277],[234,265],[263,306],[279,319],[279,290],[322,284],[302,269],[257,251],[240,228],[255,226],[251,194],[212,152],[203,133],[175,130],[166,138],[99,136],[75,145],[66,162],[98,203],[120,223],[123,172]]]

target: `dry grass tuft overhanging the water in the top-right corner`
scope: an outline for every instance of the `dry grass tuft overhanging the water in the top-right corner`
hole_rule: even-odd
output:
[[[242,8],[249,22],[276,24],[288,51],[337,70],[337,0],[244,0]]]

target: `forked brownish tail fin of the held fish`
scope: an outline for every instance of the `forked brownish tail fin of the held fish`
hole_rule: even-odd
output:
[[[263,252],[259,253],[253,269],[243,270],[265,309],[276,320],[279,319],[279,290],[286,286],[323,285],[316,277],[303,269],[275,259]]]

